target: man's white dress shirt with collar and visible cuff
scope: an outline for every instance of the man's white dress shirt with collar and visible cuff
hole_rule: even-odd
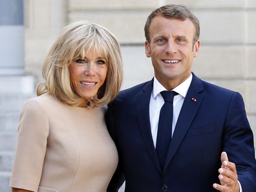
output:
[[[189,78],[187,78],[187,80],[180,83],[180,85],[175,87],[175,89],[171,90],[178,93],[178,95],[176,95],[173,98],[173,129],[172,129],[171,136],[173,136],[173,132],[175,131],[178,115],[180,114],[180,110],[186,98],[187,91],[191,84],[192,78],[193,76],[191,74]],[[156,147],[156,136],[158,131],[158,120],[160,116],[160,110],[164,105],[164,98],[160,94],[161,91],[167,91],[167,90],[161,83],[159,83],[158,80],[156,80],[156,77],[154,77],[153,90],[151,92],[151,98],[149,102],[149,119],[150,119],[150,125],[151,125],[151,134],[152,134],[155,147]],[[242,186],[240,182],[239,182],[239,187],[240,187],[240,192],[242,192]]]

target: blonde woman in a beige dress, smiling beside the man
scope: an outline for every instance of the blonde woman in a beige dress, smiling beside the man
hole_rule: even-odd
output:
[[[43,77],[21,112],[12,191],[106,191],[118,154],[103,106],[122,84],[118,42],[100,25],[67,25],[50,48]]]

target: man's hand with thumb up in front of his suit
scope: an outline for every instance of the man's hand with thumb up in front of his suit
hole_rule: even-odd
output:
[[[213,187],[222,192],[239,192],[240,186],[237,177],[237,169],[235,164],[228,161],[226,152],[222,152],[220,156],[221,168],[219,169],[219,184],[213,184]]]

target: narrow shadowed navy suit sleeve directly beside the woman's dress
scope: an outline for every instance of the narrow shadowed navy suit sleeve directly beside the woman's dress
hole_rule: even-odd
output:
[[[108,106],[107,112],[105,114],[105,120],[107,123],[107,129],[109,130],[109,134],[111,134],[111,138],[112,140],[114,140],[114,143],[116,144],[116,148],[118,149],[118,140],[116,138],[115,127],[114,127],[114,107],[112,103],[110,103]],[[116,168],[116,171],[114,172],[114,175],[111,178],[111,182],[107,187],[107,192],[117,192],[125,180],[125,176],[123,175],[123,170],[122,170],[122,162],[120,161],[119,150],[118,150],[118,155],[119,155],[118,167]]]

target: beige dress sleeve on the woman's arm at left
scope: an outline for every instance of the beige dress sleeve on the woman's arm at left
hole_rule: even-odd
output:
[[[47,113],[35,99],[28,100],[20,115],[11,187],[37,191],[48,134]]]

